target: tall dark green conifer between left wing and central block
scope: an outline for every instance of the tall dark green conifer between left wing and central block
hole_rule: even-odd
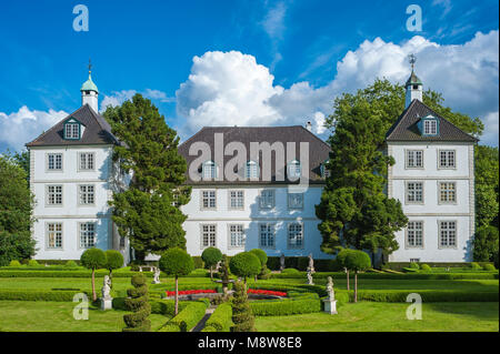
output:
[[[187,163],[178,152],[179,136],[150,100],[136,94],[121,107],[108,108],[104,118],[121,141],[113,160],[131,173],[127,190],[114,193],[113,221],[130,239],[136,257],[162,254],[170,247],[186,247],[180,206],[189,202],[183,185]]]

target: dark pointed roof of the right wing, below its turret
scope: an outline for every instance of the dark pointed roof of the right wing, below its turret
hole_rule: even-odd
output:
[[[439,134],[436,136],[422,136],[417,123],[420,119],[432,115],[439,120]],[[401,113],[394,124],[386,134],[387,141],[461,141],[477,142],[477,138],[463,132],[444,118],[440,117],[419,100],[413,100]]]

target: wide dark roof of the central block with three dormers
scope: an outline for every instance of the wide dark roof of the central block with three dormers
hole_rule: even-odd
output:
[[[214,134],[223,134],[224,146],[232,141],[238,141],[243,143],[247,150],[247,161],[250,160],[250,142],[269,142],[270,144],[274,142],[282,142],[284,151],[287,151],[287,142],[296,142],[296,158],[299,160],[300,156],[300,142],[309,143],[309,180],[310,183],[324,183],[321,179],[321,164],[329,159],[330,146],[319,139],[317,135],[311,133],[309,130],[301,125],[292,127],[204,127],[198,133],[192,135],[181,145],[179,145],[179,153],[184,156],[188,162],[188,172],[190,163],[199,156],[189,155],[189,146],[194,142],[206,142],[209,144],[213,159],[214,151]],[[234,152],[236,155],[236,152]],[[224,155],[223,163],[231,160],[234,155]],[[287,158],[288,159],[288,158]],[[262,155],[260,154],[259,161],[261,164]],[[276,181],[274,176],[274,153],[272,153],[271,159],[271,182],[269,181],[199,181],[194,182],[189,179],[189,173],[187,172],[187,183],[189,184],[289,184],[290,181],[284,178],[284,181]],[[200,166],[199,166],[200,168]],[[220,166],[218,166],[220,171]],[[201,170],[200,170],[201,171]]]

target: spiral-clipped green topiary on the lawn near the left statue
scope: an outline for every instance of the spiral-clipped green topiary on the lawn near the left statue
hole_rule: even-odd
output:
[[[148,318],[151,313],[151,305],[148,303],[148,285],[144,274],[136,274],[131,279],[133,287],[127,290],[129,297],[124,303],[128,310],[133,313],[123,315],[127,327],[123,332],[149,332],[151,321]]]

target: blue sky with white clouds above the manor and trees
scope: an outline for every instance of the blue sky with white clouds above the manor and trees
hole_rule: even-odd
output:
[[[78,3],[88,32],[72,28]],[[406,27],[412,3],[420,32]],[[324,136],[333,98],[377,75],[403,81],[409,52],[424,85],[480,117],[483,142],[498,145],[498,11],[448,0],[2,2],[0,151],[79,108],[89,58],[101,102],[144,93],[183,139],[202,124],[307,120]]]

